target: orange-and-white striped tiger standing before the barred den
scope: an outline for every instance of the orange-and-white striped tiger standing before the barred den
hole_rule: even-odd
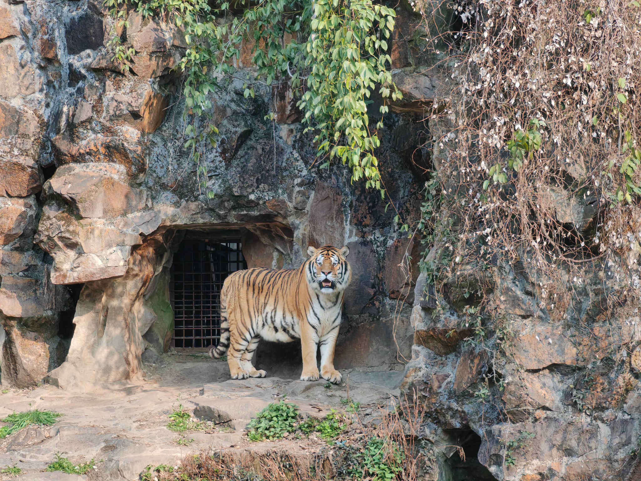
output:
[[[221,338],[210,346],[213,359],[227,353],[232,379],[265,377],[251,363],[260,339],[301,339],[302,381],[319,374],[333,384],[342,380],[334,368],[338,327],[345,289],[352,271],[349,248],[309,246],[310,256],[298,269],[254,267],[229,274],[221,289]],[[317,350],[320,348],[320,371]]]

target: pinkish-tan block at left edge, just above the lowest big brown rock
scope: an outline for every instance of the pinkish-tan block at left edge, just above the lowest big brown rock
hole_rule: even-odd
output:
[[[42,316],[47,308],[40,281],[5,275],[0,285],[0,310],[9,317]]]

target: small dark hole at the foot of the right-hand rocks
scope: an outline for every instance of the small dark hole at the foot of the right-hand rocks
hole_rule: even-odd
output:
[[[481,437],[470,428],[449,429],[448,432],[455,440],[453,444],[463,449],[454,451],[447,464],[452,470],[452,481],[495,481],[492,473],[478,460]]]

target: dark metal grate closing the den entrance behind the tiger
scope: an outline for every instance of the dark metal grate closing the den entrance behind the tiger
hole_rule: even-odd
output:
[[[208,348],[221,339],[221,289],[227,276],[247,269],[240,241],[185,239],[174,254],[171,303],[176,348]]]

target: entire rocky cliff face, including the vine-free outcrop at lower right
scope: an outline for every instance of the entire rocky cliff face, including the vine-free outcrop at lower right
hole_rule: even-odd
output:
[[[385,120],[379,158],[395,207],[417,218],[430,155],[446,158],[438,143],[417,149],[444,128],[420,122],[422,110],[450,86],[435,67],[421,73],[443,59],[424,53],[409,9],[397,11],[392,60],[404,103]],[[221,139],[199,187],[171,71],[185,39],[132,15],[119,35],[137,55],[122,74],[105,47],[111,22],[94,0],[0,0],[3,385],[140,375],[145,350],[169,347],[169,269],[189,232],[237,232],[250,267],[294,267],[310,244],[347,245],[354,279],[337,367],[399,369],[411,357],[403,388],[428,407],[427,478],[628,473],[641,434],[638,300],[609,317],[594,290],[576,294],[579,308],[565,299],[542,308],[528,269],[492,266],[459,273],[437,305],[422,278],[413,286],[420,242],[395,230],[378,194],[340,166],[312,166],[286,86],[245,99],[242,81],[222,81],[212,94]],[[249,51],[240,67],[251,69]],[[604,282],[597,271],[592,286]],[[489,329],[504,332],[490,350],[469,342],[462,323],[484,282],[501,299],[502,321]]]

